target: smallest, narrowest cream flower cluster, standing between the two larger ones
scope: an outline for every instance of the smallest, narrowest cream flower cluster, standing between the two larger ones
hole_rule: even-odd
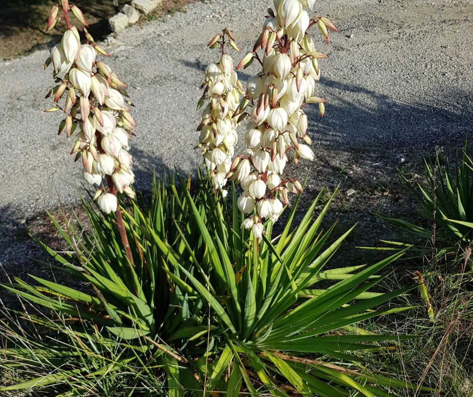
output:
[[[230,170],[234,147],[238,142],[236,129],[239,120],[233,115],[239,107],[240,94],[244,95],[243,85],[233,70],[233,60],[225,53],[225,44],[241,52],[229,29],[224,29],[208,44],[210,48],[221,45],[222,56],[218,63],[211,63],[205,70],[205,81],[202,83],[204,95],[197,109],[206,100],[210,103],[202,112],[202,123],[197,128],[200,131],[199,144],[196,146],[196,149],[202,148],[204,164],[210,171],[215,191],[222,189],[224,196],[227,194],[223,189],[227,182],[226,174]]]

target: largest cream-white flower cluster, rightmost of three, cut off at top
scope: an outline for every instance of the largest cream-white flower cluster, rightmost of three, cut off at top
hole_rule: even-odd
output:
[[[310,19],[304,7],[312,8],[310,0],[274,0],[277,15],[269,9],[263,33],[253,51],[237,67],[248,67],[256,58],[262,71],[247,83],[245,104],[251,121],[247,124],[245,150],[235,158],[225,176],[235,179],[243,188],[237,205],[240,211],[251,215],[243,226],[252,229],[255,237],[264,232],[263,219],[275,222],[288,204],[288,193],[302,191],[294,179],[281,176],[288,152],[294,149],[294,163],[299,159],[313,160],[314,154],[306,135],[307,116],[303,106],[318,103],[322,116],[325,100],[314,97],[315,82],[320,79],[318,59],[327,56],[317,52],[308,29],[317,24],[328,42],[327,28],[337,30],[326,18]],[[263,59],[257,50],[264,50]],[[242,101],[243,102],[243,101]],[[238,116],[238,112],[235,112]],[[241,117],[240,117],[241,118]],[[299,143],[302,140],[304,143]],[[255,211],[256,210],[256,211]]]

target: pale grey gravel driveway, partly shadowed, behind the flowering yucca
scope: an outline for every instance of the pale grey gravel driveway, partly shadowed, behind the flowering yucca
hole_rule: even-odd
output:
[[[203,70],[218,56],[206,44],[229,27],[248,51],[271,5],[197,2],[185,13],[135,25],[104,43],[112,55],[107,63],[129,85],[136,105],[137,187],[146,188],[153,170],[164,166],[194,172],[195,104]],[[321,62],[317,86],[329,102],[326,116],[308,110],[319,156],[309,181],[314,190],[325,180],[321,174],[344,166],[377,194],[373,181],[392,176],[402,161],[412,164],[435,145],[451,151],[471,133],[473,1],[321,0],[312,15],[325,15],[340,29],[329,45],[314,35],[318,49],[330,55]],[[73,142],[55,134],[60,116],[43,112],[53,85],[51,71],[42,69],[47,56],[39,51],[0,62],[0,263],[18,275],[32,270],[26,257],[40,255],[35,243],[22,238],[27,227],[41,229],[40,213],[57,207],[58,195],[65,204],[76,203],[81,184],[80,167],[68,155]],[[240,55],[233,58],[238,62]],[[240,79],[255,72],[252,66]]]

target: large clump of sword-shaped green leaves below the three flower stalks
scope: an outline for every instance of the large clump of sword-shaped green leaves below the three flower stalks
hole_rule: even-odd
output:
[[[122,208],[134,266],[114,214],[101,214],[84,201],[92,231],[77,218],[76,230],[72,223],[61,228],[51,217],[71,249],[59,255],[45,248],[61,270],[92,290],[39,278],[36,286],[18,279],[5,286],[51,315],[23,313],[2,322],[7,384],[0,390],[35,389],[57,397],[332,397],[384,396],[391,388],[413,387],[370,372],[365,354],[410,336],[349,328],[408,309],[373,310],[412,288],[368,291],[385,277],[376,273],[403,252],[371,267],[324,271],[352,230],[332,244],[327,241],[334,226],[320,231],[333,195],[315,216],[319,195],[293,227],[297,197],[282,234],[272,240],[270,223],[262,239],[242,228],[235,206],[228,211],[206,177],[199,175],[194,195],[190,180],[180,179],[179,186],[173,179],[169,189],[166,180],[155,182],[149,207],[141,200]],[[229,197],[234,203],[234,188]],[[333,282],[329,288],[313,288],[327,280]],[[40,335],[34,338],[34,328],[23,333],[21,321],[35,325]]]

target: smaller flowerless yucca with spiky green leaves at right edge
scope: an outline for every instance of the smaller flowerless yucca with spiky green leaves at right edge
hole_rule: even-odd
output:
[[[425,241],[430,240],[435,263],[443,262],[448,267],[463,260],[465,268],[466,260],[473,270],[473,262],[469,259],[473,241],[473,161],[468,156],[467,140],[462,158],[456,154],[453,172],[447,157],[442,166],[438,153],[434,159],[428,156],[424,162],[426,185],[413,186],[402,173],[401,176],[429,226],[422,227],[379,213],[375,215],[421,239],[413,251],[424,252]],[[463,254],[466,250],[468,255]]]

